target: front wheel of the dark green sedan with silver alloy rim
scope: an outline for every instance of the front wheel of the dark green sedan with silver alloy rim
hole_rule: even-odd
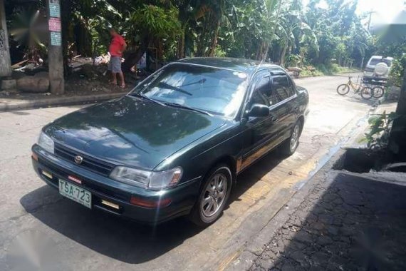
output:
[[[222,215],[231,192],[232,174],[227,165],[217,165],[204,178],[199,199],[190,214],[190,220],[207,227]]]

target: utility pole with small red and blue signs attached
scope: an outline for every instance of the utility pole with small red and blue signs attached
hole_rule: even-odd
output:
[[[63,0],[47,0],[48,9],[48,68],[51,93],[63,94],[65,81],[63,78],[63,53],[61,33],[61,4]]]

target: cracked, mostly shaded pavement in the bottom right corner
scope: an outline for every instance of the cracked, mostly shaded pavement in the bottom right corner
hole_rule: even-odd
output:
[[[405,197],[360,175],[322,180],[251,270],[406,270]]]

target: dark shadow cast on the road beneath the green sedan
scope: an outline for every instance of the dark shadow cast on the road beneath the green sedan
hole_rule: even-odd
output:
[[[277,151],[269,153],[239,175],[229,204],[278,165],[281,161],[278,157]],[[203,230],[187,218],[152,227],[88,210],[63,198],[48,185],[24,195],[20,203],[28,213],[61,235],[95,252],[132,264],[153,260]]]

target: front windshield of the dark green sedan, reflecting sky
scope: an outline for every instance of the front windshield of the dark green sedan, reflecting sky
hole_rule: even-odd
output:
[[[140,83],[133,93],[168,105],[233,117],[244,97],[246,81],[246,73],[239,71],[175,63]]]

